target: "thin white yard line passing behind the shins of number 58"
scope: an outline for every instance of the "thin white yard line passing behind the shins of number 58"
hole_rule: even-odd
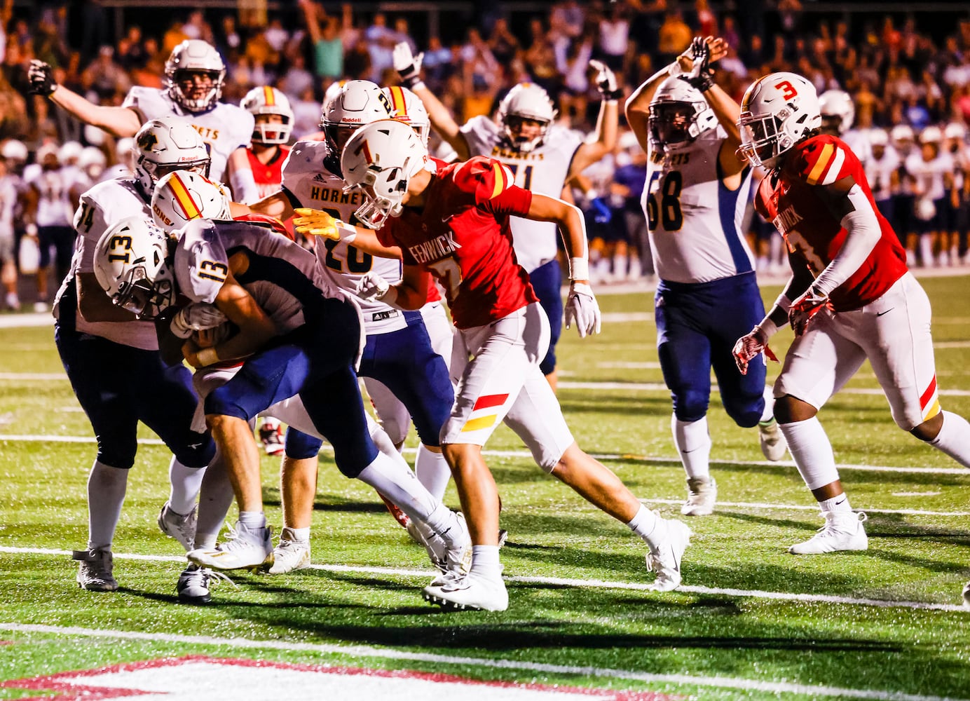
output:
[[[561,383],[562,384],[562,383]],[[86,435],[41,435],[34,433],[0,433],[0,442],[47,442],[47,443],[95,443],[93,436]],[[164,445],[159,438],[139,438],[139,445]],[[329,444],[323,444],[323,450],[332,451]],[[404,453],[414,453],[415,448],[404,448]],[[525,450],[484,450],[482,455],[493,458],[524,458],[532,460],[533,454]],[[658,464],[680,465],[679,458],[667,458],[662,456],[634,455],[632,453],[592,453],[597,460],[612,462],[638,461],[655,462]],[[777,467],[794,468],[792,461],[728,461],[712,460],[712,465],[751,465],[756,467]],[[965,475],[970,477],[970,470],[965,467],[893,467],[889,465],[867,465],[867,464],[836,464],[840,470],[855,470],[857,472],[895,472],[908,474],[930,474],[930,475]]]

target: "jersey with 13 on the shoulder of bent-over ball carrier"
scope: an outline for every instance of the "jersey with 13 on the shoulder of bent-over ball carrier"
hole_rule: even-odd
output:
[[[344,298],[323,279],[306,248],[244,221],[194,219],[176,232],[178,291],[193,302],[214,303],[229,272],[229,251],[248,259],[237,281],[273,319],[280,335],[303,326],[306,280],[327,297]]]

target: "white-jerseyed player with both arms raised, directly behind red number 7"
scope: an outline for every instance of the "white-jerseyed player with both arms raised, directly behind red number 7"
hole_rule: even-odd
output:
[[[549,197],[559,197],[566,181],[596,163],[616,145],[618,100],[613,72],[599,61],[590,66],[597,71],[596,84],[602,103],[595,138],[583,142],[580,136],[554,124],[556,109],[540,86],[522,82],[502,98],[496,119],[476,116],[459,126],[436,95],[420,78],[424,54],[411,55],[403,42],[394,48],[394,67],[402,83],[421,98],[431,124],[441,138],[457,152],[459,160],[488,156],[508,166],[516,184]],[[597,197],[596,193],[588,196]],[[557,233],[552,222],[512,217],[515,256],[529,272],[533,290],[549,319],[549,350],[542,359],[542,373],[556,388],[556,343],[562,331],[562,272],[557,258]]]

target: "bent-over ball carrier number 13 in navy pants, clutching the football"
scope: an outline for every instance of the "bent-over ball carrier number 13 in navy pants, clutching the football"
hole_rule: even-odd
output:
[[[199,182],[186,183],[185,189],[198,188]],[[184,204],[197,207],[200,199],[207,197]],[[219,215],[228,212],[224,199]],[[447,543],[448,571],[457,573],[468,544],[464,522],[428,494],[404,462],[379,453],[371,439],[354,372],[363,349],[357,305],[324,279],[312,253],[285,237],[267,236],[257,224],[195,219],[176,237],[170,250],[168,237],[153,221],[128,219],[106,232],[97,256],[99,282],[113,302],[132,309],[151,303],[159,313],[171,309],[170,329],[176,335],[193,326],[186,318],[192,305],[175,309],[178,295],[214,305],[238,328],[214,344],[202,346],[189,337],[181,345],[191,366],[226,361],[242,366],[204,398],[206,422],[229,471],[240,517],[227,542],[217,549],[197,548],[189,559],[218,570],[272,565],[259,453],[249,421],[299,396],[307,415],[304,429],[331,442],[339,470],[433,529]],[[129,249],[133,257],[126,260]],[[134,282],[125,284],[128,280]]]

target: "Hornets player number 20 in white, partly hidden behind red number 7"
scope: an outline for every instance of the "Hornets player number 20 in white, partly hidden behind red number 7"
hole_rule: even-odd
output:
[[[286,219],[293,215],[294,207],[313,207],[325,209],[335,218],[352,220],[354,211],[363,204],[363,196],[344,192],[340,148],[362,124],[390,116],[390,101],[375,83],[345,82],[324,105],[320,126],[325,141],[296,143],[283,164],[281,189],[250,209]],[[361,279],[370,271],[377,271],[390,280],[401,278],[401,260],[393,252],[390,254],[393,258],[382,258],[339,240],[321,240],[315,252],[327,280],[354,297]],[[359,374],[380,381],[407,407],[424,446],[418,452],[417,472],[422,476],[422,483],[434,487],[440,496],[444,486],[438,491],[437,485],[442,480],[447,485],[450,474],[439,447],[439,432],[454,399],[447,366],[432,347],[420,312],[404,311],[377,300],[358,298],[358,302],[364,312],[367,335]],[[397,435],[393,438],[398,440]],[[404,440],[404,435],[400,435],[400,440]],[[296,473],[285,475],[284,481],[294,489],[289,494],[290,506],[284,503],[288,516],[280,540],[281,550],[277,552],[280,564],[271,570],[274,573],[285,571],[286,562],[308,550],[308,540],[297,538],[308,534],[316,491],[315,471],[303,477]]]

